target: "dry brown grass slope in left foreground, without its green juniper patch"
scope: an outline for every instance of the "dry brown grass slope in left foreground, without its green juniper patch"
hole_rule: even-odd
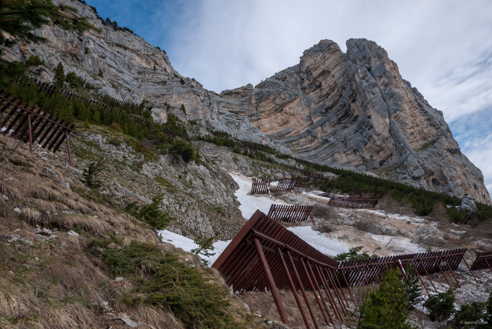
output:
[[[2,136],[0,142],[11,145],[12,141]],[[202,286],[210,291],[209,297],[225,312],[223,318],[237,322],[237,327],[249,322],[237,300],[224,293],[227,287],[217,273],[200,268],[194,255],[161,243],[147,224],[104,198],[91,196],[77,181],[78,175],[61,168],[66,164],[63,156],[59,164],[50,166],[26,147],[19,148],[0,169],[0,194],[8,197],[0,197],[0,327],[119,327],[121,321],[111,320],[108,307],[142,322],[142,328],[201,327],[200,319],[188,310],[173,309],[166,300],[155,302],[149,298],[152,289],[140,289],[155,282],[145,266],[140,264],[131,273],[114,270],[111,259],[118,253],[120,258],[131,259],[122,251],[141,243],[150,246],[154,256],[155,252],[170,255],[169,265],[186,268],[185,279],[193,277],[197,289]],[[61,187],[60,179],[71,179],[71,189]],[[33,233],[36,225],[57,230],[53,232],[56,238],[39,239]],[[80,235],[69,236],[68,230]],[[33,244],[13,241],[11,234]],[[161,266],[167,269],[167,263]],[[115,282],[116,275],[125,279]],[[207,284],[217,288],[211,290]],[[185,288],[175,298],[187,298],[190,293]]]

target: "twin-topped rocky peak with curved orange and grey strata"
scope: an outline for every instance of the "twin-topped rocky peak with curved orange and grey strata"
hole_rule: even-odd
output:
[[[297,156],[490,203],[481,171],[460,151],[441,111],[402,79],[386,51],[350,39],[306,50],[298,65],[224,96]]]

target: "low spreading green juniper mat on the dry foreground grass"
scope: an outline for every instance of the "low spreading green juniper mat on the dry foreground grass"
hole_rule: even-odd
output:
[[[133,291],[120,298],[121,303],[169,309],[187,328],[245,327],[243,321],[226,313],[231,306],[227,289],[211,280],[208,268],[191,267],[176,254],[136,241],[128,248],[105,250],[102,260],[110,275],[133,277],[136,282]]]

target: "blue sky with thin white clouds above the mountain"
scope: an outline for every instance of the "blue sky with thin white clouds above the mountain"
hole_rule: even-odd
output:
[[[492,194],[492,1],[86,0],[165,50],[173,67],[221,92],[299,63],[322,39],[383,47],[441,110]]]

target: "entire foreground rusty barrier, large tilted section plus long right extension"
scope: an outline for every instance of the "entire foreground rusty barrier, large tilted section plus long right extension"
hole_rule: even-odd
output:
[[[465,252],[466,249],[458,249],[337,262],[257,210],[212,267],[221,273],[235,292],[258,291],[268,287],[285,324],[289,324],[289,319],[278,290],[290,288],[306,328],[311,329],[313,323],[319,329],[306,291],[313,293],[324,322],[327,325],[335,325],[335,321],[344,321],[343,318],[347,317],[348,309],[351,307],[348,296],[343,292],[343,286],[346,286],[354,305],[351,286],[380,283],[382,274],[393,268],[398,268],[402,277],[415,273],[427,293],[422,276],[426,276],[434,287],[430,275],[436,272],[444,276],[449,286],[450,282],[445,272],[450,272],[459,286],[454,271],[461,260],[470,270],[463,258]],[[486,258],[492,258],[492,255],[487,254]],[[481,256],[481,259],[486,258]],[[435,287],[434,289],[436,290]],[[304,312],[297,290],[301,292],[308,308],[311,323]]]

